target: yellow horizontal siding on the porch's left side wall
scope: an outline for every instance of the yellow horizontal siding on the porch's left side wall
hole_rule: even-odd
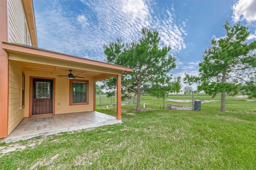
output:
[[[24,118],[24,109],[21,106],[21,83],[22,70],[16,61],[9,61],[9,117],[8,117],[8,134]]]

